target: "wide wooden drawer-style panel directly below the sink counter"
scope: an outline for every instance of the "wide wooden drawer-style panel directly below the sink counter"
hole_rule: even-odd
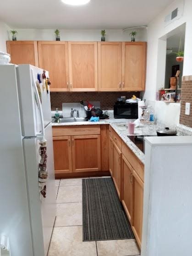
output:
[[[75,136],[75,135],[100,135],[100,125],[77,125],[77,126],[55,126],[53,137],[55,136]]]

